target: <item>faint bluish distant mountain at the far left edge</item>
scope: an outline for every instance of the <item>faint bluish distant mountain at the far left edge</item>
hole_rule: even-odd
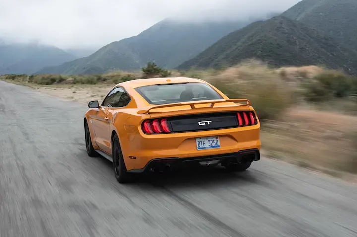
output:
[[[76,59],[57,47],[32,43],[2,43],[0,56],[0,75],[32,74],[43,67]]]

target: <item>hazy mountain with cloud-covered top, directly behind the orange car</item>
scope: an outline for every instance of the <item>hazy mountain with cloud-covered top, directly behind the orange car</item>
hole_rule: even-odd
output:
[[[111,70],[136,70],[149,61],[155,61],[164,68],[174,68],[250,22],[188,23],[166,19],[137,36],[112,42],[88,57],[43,68],[37,74],[95,74]]]

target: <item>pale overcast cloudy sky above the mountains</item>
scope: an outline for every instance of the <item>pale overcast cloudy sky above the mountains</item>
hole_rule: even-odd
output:
[[[246,18],[300,0],[0,0],[0,38],[61,48],[101,47],[156,22]]]

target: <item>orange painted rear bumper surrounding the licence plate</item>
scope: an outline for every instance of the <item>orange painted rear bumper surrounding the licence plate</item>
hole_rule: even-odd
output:
[[[196,138],[219,136],[220,148],[198,150]],[[194,157],[222,156],[243,150],[261,148],[260,124],[196,132],[146,135],[142,131],[122,139],[121,145],[126,169],[145,169],[152,160],[162,158],[190,159]]]

